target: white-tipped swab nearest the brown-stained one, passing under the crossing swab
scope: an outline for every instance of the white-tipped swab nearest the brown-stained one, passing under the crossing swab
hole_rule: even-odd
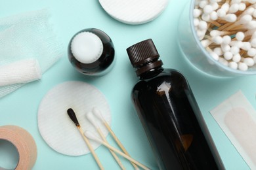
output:
[[[92,112],[88,112],[86,114],[87,119],[91,122],[91,124],[93,124],[93,126],[95,126],[96,130],[98,131],[98,134],[100,135],[101,139],[105,142],[108,143],[108,141],[106,140],[106,138],[104,137],[100,127],[98,126],[98,124],[96,123],[95,118],[93,117],[93,113]],[[125,169],[125,167],[123,166],[123,164],[121,163],[121,161],[119,160],[119,158],[117,157],[117,155],[115,154],[115,152],[113,152],[112,150],[110,150],[110,153],[112,154],[112,156],[115,158],[115,160],[117,161],[118,165],[121,167],[121,169]]]

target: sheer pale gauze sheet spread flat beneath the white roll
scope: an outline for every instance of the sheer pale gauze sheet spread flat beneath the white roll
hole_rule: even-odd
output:
[[[53,25],[50,24],[50,18],[51,14],[47,9],[0,18],[0,66],[36,59],[41,73],[45,73],[64,52],[53,31]],[[39,78],[35,77],[37,79]],[[26,82],[18,80],[17,84],[1,86],[0,97],[20,88]]]

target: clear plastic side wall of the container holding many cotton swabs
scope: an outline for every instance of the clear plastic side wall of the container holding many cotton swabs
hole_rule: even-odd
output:
[[[194,27],[195,0],[188,2],[179,19],[178,33],[179,46],[186,59],[197,69],[212,76],[243,76],[256,75],[256,67],[250,67],[247,71],[231,69],[213,59],[203,48]]]

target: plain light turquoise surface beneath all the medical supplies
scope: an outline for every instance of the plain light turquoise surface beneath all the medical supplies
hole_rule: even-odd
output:
[[[240,154],[209,114],[209,110],[238,90],[242,90],[255,107],[255,76],[214,78],[200,73],[184,60],[177,43],[177,24],[182,8],[188,0],[169,1],[161,16],[142,25],[127,25],[114,20],[104,12],[98,1],[0,2],[0,17],[30,10],[51,9],[54,28],[65,47],[63,58],[51,67],[41,80],[27,84],[0,99],[0,126],[11,124],[23,127],[35,139],[38,155],[33,169],[97,169],[91,154],[72,157],[55,152],[43,141],[37,128],[37,109],[45,93],[57,84],[70,80],[88,82],[104,93],[112,110],[112,129],[120,141],[135,160],[157,169],[151,148],[131,103],[130,92],[137,77],[126,53],[127,47],[148,38],[155,42],[164,67],[178,69],[188,78],[226,169],[248,169]],[[102,29],[114,41],[117,62],[108,75],[98,78],[83,76],[75,71],[68,61],[66,46],[70,38],[77,31],[88,27]],[[110,137],[108,141],[114,144]],[[106,169],[118,169],[117,163],[104,146],[100,146],[96,153]],[[127,169],[133,168],[129,161],[123,158],[121,160]]]

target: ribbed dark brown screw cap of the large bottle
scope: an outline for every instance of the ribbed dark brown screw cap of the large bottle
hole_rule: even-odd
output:
[[[160,67],[163,65],[161,60],[158,60],[160,55],[158,54],[158,50],[154,45],[152,39],[147,39],[133,46],[130,46],[126,49],[129,59],[133,67],[137,68],[137,76],[153,69],[155,67]],[[151,62],[156,60],[154,62]]]

